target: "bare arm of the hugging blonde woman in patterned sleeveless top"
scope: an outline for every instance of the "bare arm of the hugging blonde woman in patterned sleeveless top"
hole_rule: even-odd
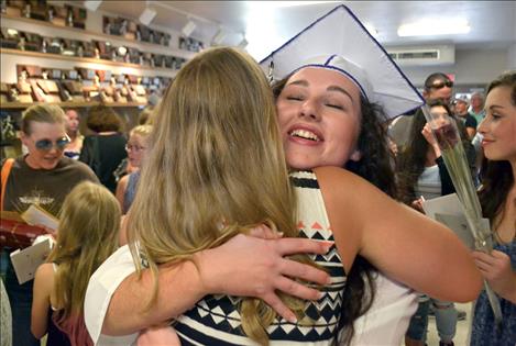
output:
[[[343,169],[323,167],[316,174],[348,269],[361,254],[387,277],[433,298],[466,302],[477,297],[480,271],[449,228]]]

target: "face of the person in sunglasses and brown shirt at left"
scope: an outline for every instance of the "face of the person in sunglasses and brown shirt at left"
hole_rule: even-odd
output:
[[[63,148],[56,143],[66,137],[65,124],[32,122],[31,134],[22,133],[22,143],[29,149],[26,164],[33,169],[54,169],[63,157]],[[52,142],[51,149],[41,149],[36,143],[42,139]]]

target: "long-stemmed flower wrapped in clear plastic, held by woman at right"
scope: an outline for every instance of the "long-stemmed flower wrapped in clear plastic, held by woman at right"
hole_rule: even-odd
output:
[[[455,188],[457,196],[462,204],[462,209],[464,210],[469,230],[475,239],[475,249],[491,253],[493,249],[492,232],[488,222],[482,219],[482,209],[476,194],[476,188],[473,183],[457,123],[449,115],[432,114],[429,107],[426,104],[422,105],[422,112],[441,149],[442,158]],[[498,298],[485,280],[484,287],[491,308],[493,309],[495,321],[499,325],[502,322],[502,311]]]

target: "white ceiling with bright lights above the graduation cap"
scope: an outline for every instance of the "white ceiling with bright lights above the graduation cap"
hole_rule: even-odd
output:
[[[224,44],[238,44],[245,34],[248,51],[262,58],[339,3],[347,4],[378,32],[385,46],[454,44],[457,48],[492,49],[516,44],[516,1],[147,1],[157,11],[152,24],[180,31],[188,16],[197,23],[193,37],[209,43],[221,25]],[[100,10],[138,19],[145,1],[105,0]],[[465,19],[468,34],[398,37],[400,24],[421,19]],[[260,41],[259,36],[262,36]],[[265,40],[263,40],[265,37]]]

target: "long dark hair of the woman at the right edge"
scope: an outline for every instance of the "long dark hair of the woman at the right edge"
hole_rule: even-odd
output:
[[[506,87],[510,89],[510,103],[516,107],[516,71],[508,71],[493,80],[488,87],[486,96],[495,88]],[[481,170],[482,188],[479,191],[480,204],[484,217],[491,221],[493,230],[495,216],[504,212],[504,202],[508,191],[514,185],[514,176],[508,160],[484,159]]]

